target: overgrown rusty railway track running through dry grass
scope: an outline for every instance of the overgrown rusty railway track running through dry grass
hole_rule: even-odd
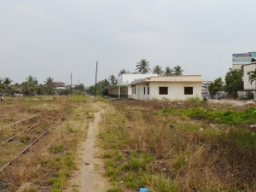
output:
[[[21,154],[25,154],[28,148],[44,137],[49,130],[61,122],[60,115],[55,112],[37,113],[28,118],[20,119],[7,125],[9,137],[0,137],[0,154],[7,157],[0,160],[0,173],[10,166]],[[4,138],[6,137],[6,138]]]

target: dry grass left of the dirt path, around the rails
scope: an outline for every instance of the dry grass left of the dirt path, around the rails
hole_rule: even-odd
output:
[[[67,178],[76,169],[76,150],[86,137],[95,108],[89,96],[6,97],[0,105],[0,167],[13,160],[48,127],[38,143],[0,172],[0,191],[62,191]],[[33,119],[19,123],[39,114]],[[61,119],[61,121],[60,121]],[[16,125],[13,123],[18,122]],[[31,131],[28,127],[38,124]],[[9,137],[20,134],[4,143]]]

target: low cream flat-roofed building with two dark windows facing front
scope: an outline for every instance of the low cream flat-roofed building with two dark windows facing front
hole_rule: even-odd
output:
[[[201,75],[148,77],[131,83],[131,97],[139,100],[201,97],[201,83]]]

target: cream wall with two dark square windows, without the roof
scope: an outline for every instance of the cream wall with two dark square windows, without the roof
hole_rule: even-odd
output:
[[[143,87],[146,87],[146,94],[144,95]],[[171,99],[171,100],[185,100],[189,97],[199,96],[201,98],[201,82],[185,83],[185,82],[148,82],[149,95],[145,83],[136,84],[137,94],[133,94],[132,98],[139,100],[147,99]],[[159,87],[168,87],[168,95],[159,95]],[[193,95],[184,95],[184,87],[193,87]]]

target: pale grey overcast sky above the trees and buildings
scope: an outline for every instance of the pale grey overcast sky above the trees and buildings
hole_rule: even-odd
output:
[[[174,67],[224,76],[232,54],[256,51],[254,0],[22,0],[0,2],[0,76],[94,84],[123,68]]]

